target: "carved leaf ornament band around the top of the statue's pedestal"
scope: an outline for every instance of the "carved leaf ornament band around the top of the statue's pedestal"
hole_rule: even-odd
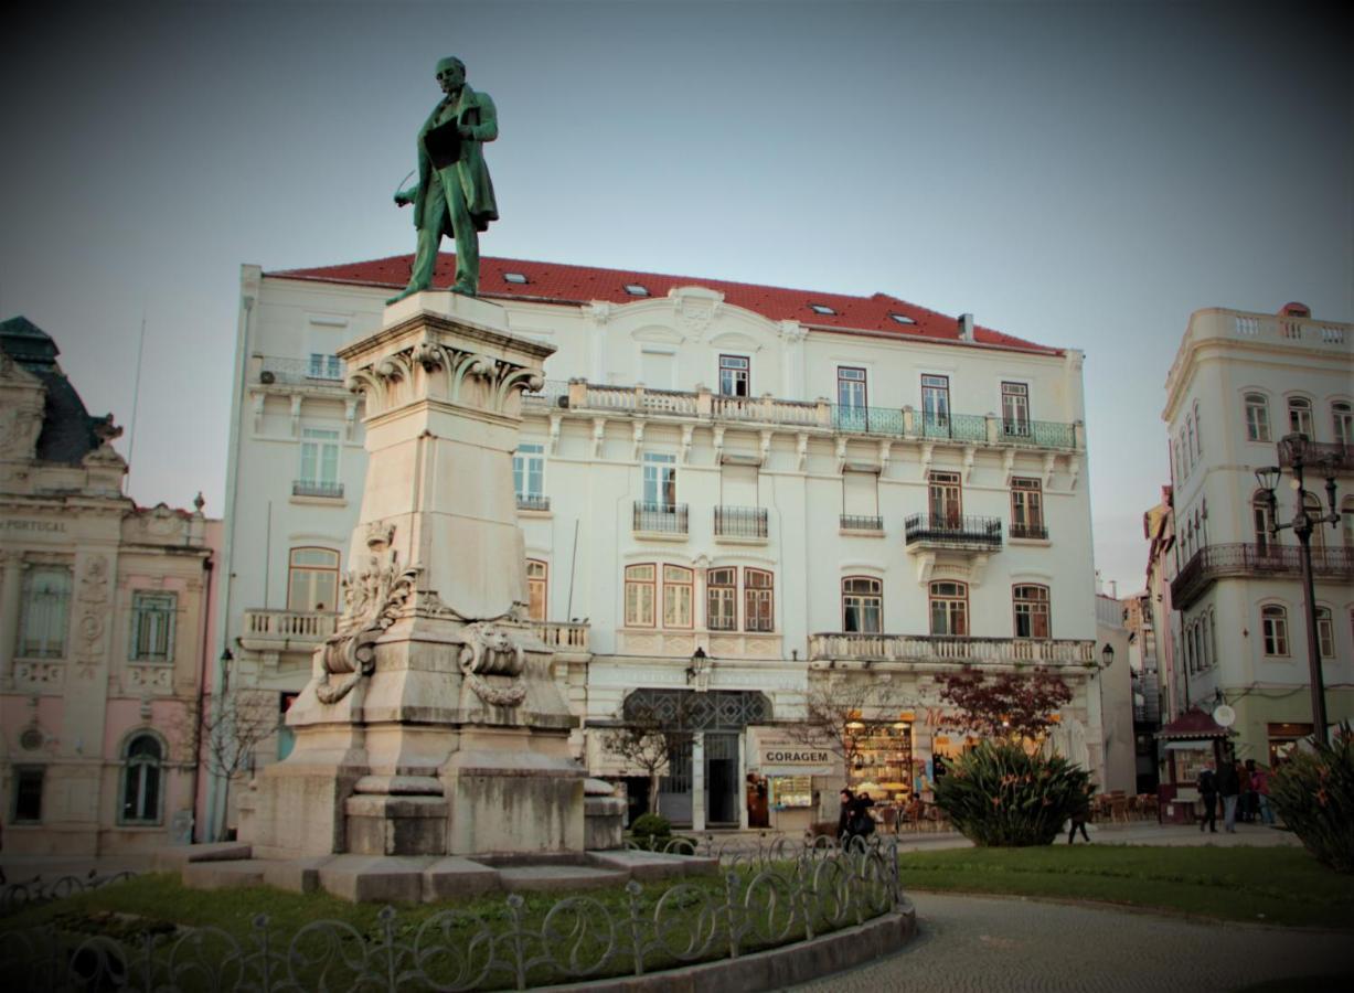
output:
[[[401,401],[420,396],[439,396],[452,404],[462,404],[462,390],[467,379],[479,381],[486,387],[483,406],[501,413],[512,390],[540,390],[546,379],[540,370],[528,368],[482,352],[470,352],[435,341],[387,355],[366,366],[359,366],[348,377],[347,386],[364,394],[368,413],[372,408],[390,409]],[[479,405],[479,404],[475,404]]]

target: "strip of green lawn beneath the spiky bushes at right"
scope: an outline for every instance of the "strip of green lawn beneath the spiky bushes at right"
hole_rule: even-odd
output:
[[[1354,927],[1354,876],[1301,848],[1045,845],[899,856],[903,890],[1097,900],[1220,920]]]

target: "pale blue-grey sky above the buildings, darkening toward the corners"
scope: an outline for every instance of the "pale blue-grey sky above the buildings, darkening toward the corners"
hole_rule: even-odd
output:
[[[127,428],[142,504],[222,512],[241,264],[413,251],[390,198],[445,54],[498,107],[485,255],[879,291],[1082,350],[1120,592],[1190,313],[1354,320],[1334,4],[123,0],[0,28],[0,318]]]

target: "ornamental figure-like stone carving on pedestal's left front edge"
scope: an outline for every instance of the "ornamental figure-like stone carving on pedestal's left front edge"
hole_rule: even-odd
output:
[[[376,669],[376,641],[413,595],[417,568],[405,568],[391,547],[395,528],[367,528],[367,561],[343,578],[344,612],[334,633],[320,648],[324,680],[315,688],[321,703],[337,703]],[[333,681],[333,676],[341,676]]]

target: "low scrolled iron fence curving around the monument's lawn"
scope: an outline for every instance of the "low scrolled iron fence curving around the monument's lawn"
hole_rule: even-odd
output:
[[[259,914],[219,928],[130,940],[46,925],[0,932],[12,989],[479,990],[528,989],[737,959],[903,909],[898,843],[768,848],[704,885],[626,885],[608,905],[567,897],[542,914],[519,894],[478,914],[447,909],[414,927],[393,908],[374,929],[318,920],[279,933]],[[772,858],[784,855],[784,859]]]

